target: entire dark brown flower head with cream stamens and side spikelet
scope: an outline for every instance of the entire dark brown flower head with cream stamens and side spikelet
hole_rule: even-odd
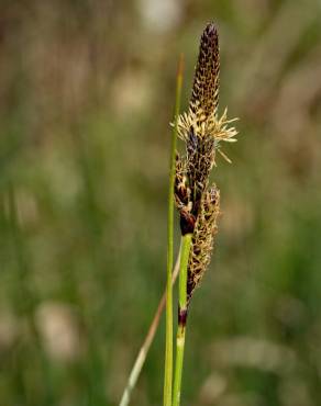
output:
[[[186,145],[185,155],[177,154],[175,200],[180,213],[181,234],[192,233],[188,269],[188,302],[210,262],[220,212],[220,192],[209,188],[221,142],[235,142],[236,129],[230,126],[228,110],[218,114],[220,54],[214,24],[201,35],[188,112],[178,120],[178,135]]]

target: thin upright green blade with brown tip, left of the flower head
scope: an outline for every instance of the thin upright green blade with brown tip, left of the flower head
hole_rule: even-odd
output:
[[[174,127],[171,132],[170,172],[168,190],[168,218],[167,218],[167,282],[166,282],[166,347],[165,347],[165,374],[164,374],[164,406],[171,406],[171,381],[173,381],[173,289],[171,269],[174,252],[174,182],[177,123],[180,109],[180,95],[182,84],[182,55],[179,59],[176,79],[176,102]]]

